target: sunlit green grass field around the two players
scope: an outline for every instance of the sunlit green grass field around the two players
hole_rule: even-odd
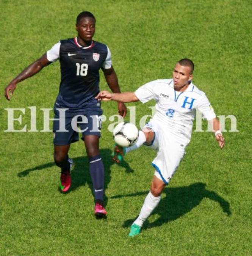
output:
[[[0,0],[0,9],[0,255],[252,254],[249,0]],[[170,78],[175,62],[187,57],[196,64],[194,83],[205,91],[216,114],[237,118],[239,132],[224,133],[222,151],[209,132],[193,133],[159,206],[133,239],[127,237],[129,227],[148,193],[155,152],[142,147],[121,165],[114,164],[107,129],[113,121],[103,123],[100,149],[108,218],[96,220],[83,142],[70,149],[73,184],[63,195],[52,133],[4,132],[4,108],[25,108],[22,125],[16,122],[15,127],[27,124],[30,129],[29,106],[36,106],[37,129],[42,130],[39,109],[53,107],[59,63],[20,83],[10,102],[3,90],[59,39],[74,37],[75,18],[83,10],[97,19],[95,40],[110,47],[122,91]],[[100,87],[107,88],[102,74]],[[154,102],[128,105],[136,106],[139,124]],[[103,103],[103,110],[107,117],[117,113],[113,102]]]

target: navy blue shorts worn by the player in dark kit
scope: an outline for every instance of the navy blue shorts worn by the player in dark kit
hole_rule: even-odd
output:
[[[53,144],[67,145],[79,140],[79,132],[82,133],[81,139],[84,140],[86,135],[101,136],[102,129],[102,110],[94,109],[89,112],[69,112],[67,110],[59,118],[59,110],[54,109],[55,117],[53,121]]]

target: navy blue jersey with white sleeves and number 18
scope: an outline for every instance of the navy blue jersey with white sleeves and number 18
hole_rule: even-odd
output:
[[[105,44],[92,41],[89,47],[82,47],[77,38],[61,40],[47,52],[47,58],[60,61],[61,83],[55,107],[77,110],[100,106],[94,99],[99,93],[99,69],[111,67]]]

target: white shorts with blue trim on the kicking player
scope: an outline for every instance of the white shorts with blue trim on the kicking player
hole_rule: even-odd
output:
[[[156,169],[154,175],[168,184],[185,154],[185,147],[175,142],[169,130],[162,129],[153,119],[150,119],[150,122],[143,129],[146,127],[155,132],[152,144],[146,145],[158,151],[157,156],[152,161],[152,166]]]

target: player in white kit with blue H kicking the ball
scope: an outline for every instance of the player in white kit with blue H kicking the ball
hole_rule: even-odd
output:
[[[175,65],[172,79],[155,80],[126,93],[109,93],[102,91],[97,99],[103,101],[121,101],[146,103],[151,99],[156,101],[157,113],[144,128],[139,131],[135,145],[129,148],[115,147],[114,160],[119,162],[127,152],[139,148],[142,144],[157,150],[157,156],[152,161],[155,174],[152,179],[149,194],[146,196],[138,218],[131,225],[129,236],[140,233],[144,221],[149,217],[161,199],[164,187],[175,173],[188,145],[196,109],[203,117],[213,123],[215,138],[220,148],[224,146],[224,137],[220,131],[219,120],[205,93],[193,83],[193,61],[182,59]]]

